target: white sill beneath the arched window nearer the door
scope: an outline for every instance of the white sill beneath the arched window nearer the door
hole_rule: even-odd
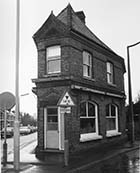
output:
[[[103,137],[94,133],[82,134],[80,136],[80,142],[88,142],[93,140],[102,139]]]

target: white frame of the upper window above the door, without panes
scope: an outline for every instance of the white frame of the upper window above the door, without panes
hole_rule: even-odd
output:
[[[54,55],[48,56],[48,50],[51,48],[59,48],[60,54],[54,54]],[[50,71],[49,63],[54,61],[60,61],[59,70]],[[60,45],[49,46],[46,48],[46,74],[50,75],[50,74],[56,74],[56,73],[61,73],[61,46]]]

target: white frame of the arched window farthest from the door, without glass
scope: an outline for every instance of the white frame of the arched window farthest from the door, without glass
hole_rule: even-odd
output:
[[[115,116],[112,116],[111,106],[115,107]],[[109,115],[107,115],[108,107],[109,107]],[[107,136],[119,133],[118,117],[119,117],[119,108],[118,108],[118,106],[116,104],[108,104],[108,105],[106,105],[106,120],[107,119],[115,119],[115,129],[114,130],[106,130]]]

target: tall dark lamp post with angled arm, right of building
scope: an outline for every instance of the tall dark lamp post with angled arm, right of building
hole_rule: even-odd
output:
[[[129,116],[129,134],[130,134],[130,144],[133,146],[135,141],[134,135],[134,116],[133,116],[133,101],[132,101],[132,87],[131,87],[131,71],[130,71],[130,55],[129,48],[134,47],[140,44],[137,42],[135,44],[127,46],[127,65],[128,65],[128,95],[129,95],[129,108],[128,108],[128,116]]]

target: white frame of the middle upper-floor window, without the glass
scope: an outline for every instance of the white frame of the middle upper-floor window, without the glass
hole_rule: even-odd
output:
[[[84,56],[85,55],[85,56]],[[93,70],[93,65],[92,65],[92,54],[89,53],[88,51],[83,51],[83,54],[82,54],[82,58],[83,58],[83,77],[85,78],[89,78],[89,79],[92,79],[93,75],[92,75],[92,70]],[[89,56],[89,57],[88,57]],[[89,59],[89,63],[85,63],[84,61],[84,57],[86,58],[90,58]],[[85,74],[85,68],[86,68],[86,71],[88,73],[89,71],[89,74]],[[89,69],[89,70],[88,70]]]

